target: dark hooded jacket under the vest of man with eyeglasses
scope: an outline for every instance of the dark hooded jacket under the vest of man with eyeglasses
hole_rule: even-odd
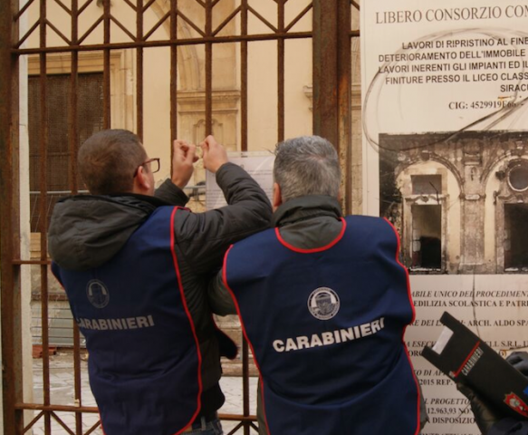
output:
[[[218,386],[220,350],[212,314],[218,312],[216,305],[226,305],[222,301],[225,295],[207,294],[207,283],[222,266],[227,247],[268,227],[272,214],[264,191],[244,169],[226,163],[216,172],[216,182],[228,206],[205,213],[181,210],[174,222],[182,285],[202,353],[204,414],[216,411],[224,402]],[[187,200],[170,180],[157,190],[156,197],[125,194],[64,198],[53,209],[48,236],[50,255],[65,269],[101,266],[120,251],[157,207],[183,207]],[[232,308],[224,311],[235,314]]]

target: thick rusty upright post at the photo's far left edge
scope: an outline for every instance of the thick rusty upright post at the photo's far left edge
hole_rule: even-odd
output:
[[[18,167],[18,57],[11,54],[18,40],[13,16],[18,0],[0,2],[0,285],[2,288],[2,379],[4,433],[22,433],[23,412],[14,404],[22,401],[22,335],[20,328]]]

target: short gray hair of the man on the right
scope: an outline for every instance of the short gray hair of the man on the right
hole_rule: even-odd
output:
[[[319,136],[284,140],[275,149],[274,179],[283,202],[306,195],[338,197],[341,169],[332,144]]]

